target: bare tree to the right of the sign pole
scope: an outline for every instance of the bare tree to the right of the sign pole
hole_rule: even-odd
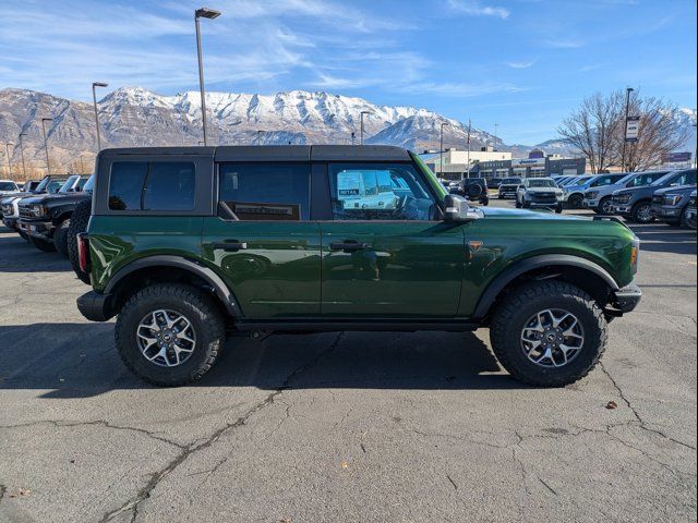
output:
[[[658,98],[640,98],[634,93],[630,97],[629,114],[640,117],[637,142],[626,144],[625,169],[642,171],[661,166],[666,154],[684,145],[689,130],[681,124],[679,109]],[[621,126],[616,136],[614,154],[615,165],[622,162],[624,130]]]

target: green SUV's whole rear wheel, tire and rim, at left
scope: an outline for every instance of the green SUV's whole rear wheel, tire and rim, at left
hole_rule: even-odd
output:
[[[213,299],[190,285],[158,283],[136,292],[119,313],[117,351],[136,376],[158,386],[196,381],[225,342]]]

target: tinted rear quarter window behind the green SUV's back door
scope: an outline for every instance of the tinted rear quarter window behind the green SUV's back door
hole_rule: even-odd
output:
[[[111,210],[193,210],[195,169],[188,161],[115,161],[109,177]]]

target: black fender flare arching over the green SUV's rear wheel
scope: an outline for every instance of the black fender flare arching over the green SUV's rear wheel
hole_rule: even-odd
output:
[[[185,258],[183,256],[153,255],[131,262],[124,267],[121,267],[109,279],[109,283],[107,283],[104,293],[112,294],[118,288],[119,282],[123,281],[125,277],[135,272],[136,270],[141,270],[147,267],[174,267],[197,276],[212,287],[214,293],[224,304],[228,314],[236,318],[242,317],[242,311],[240,309],[238,300],[232,294],[230,289],[228,289],[226,282],[222,281],[222,279],[209,267],[195,259]]]

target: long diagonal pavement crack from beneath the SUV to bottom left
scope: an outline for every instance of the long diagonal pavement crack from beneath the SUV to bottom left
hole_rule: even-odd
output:
[[[209,448],[212,445],[218,441],[226,433],[233,431],[234,429],[245,425],[248,419],[250,419],[253,415],[264,410],[268,405],[272,405],[278,396],[282,394],[284,391],[292,388],[293,380],[299,375],[303,374],[305,370],[308,370],[309,368],[317,364],[317,362],[325,354],[334,351],[344,339],[344,336],[345,336],[344,332],[339,332],[335,338],[335,340],[326,349],[318,351],[317,354],[315,354],[315,357],[313,357],[310,362],[296,368],[291,374],[289,374],[286,377],[286,379],[273,392],[266,396],[262,401],[255,403],[252,408],[250,408],[242,416],[238,417],[234,422],[227,423],[222,427],[216,429],[209,437],[201,440],[200,443],[190,443],[189,446],[182,448],[181,452],[177,454],[172,460],[170,460],[169,463],[165,465],[165,467],[151,474],[151,478],[148,479],[148,482],[141,489],[139,489],[135,496],[127,500],[123,504],[121,504],[121,507],[113,509],[109,512],[106,512],[101,516],[99,522],[106,523],[113,520],[116,516],[124,512],[133,511],[132,518],[131,518],[131,522],[133,523],[137,515],[139,506],[151,497],[151,494],[153,492],[153,490],[159,485],[159,483],[163,479],[165,479],[165,477],[167,477],[171,472],[173,472],[179,465],[181,465],[184,461],[186,461],[191,455],[204,449]],[[221,466],[227,460],[228,458],[225,458],[212,471],[205,471],[205,472],[208,472],[207,476],[213,474],[213,472],[215,472],[219,466]]]

